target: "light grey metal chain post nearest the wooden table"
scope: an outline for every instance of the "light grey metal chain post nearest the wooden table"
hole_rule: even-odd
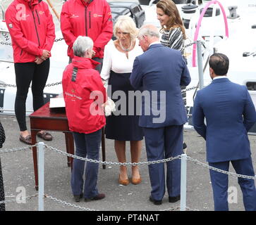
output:
[[[38,143],[38,211],[44,211],[44,143]]]

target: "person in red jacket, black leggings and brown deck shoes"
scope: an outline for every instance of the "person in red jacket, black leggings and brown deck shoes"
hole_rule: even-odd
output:
[[[42,0],[14,0],[6,10],[6,25],[11,34],[16,72],[15,113],[20,127],[20,141],[31,144],[25,122],[25,102],[32,82],[33,109],[44,105],[43,90],[49,74],[49,57],[55,28],[47,4]],[[51,141],[47,131],[37,136]]]

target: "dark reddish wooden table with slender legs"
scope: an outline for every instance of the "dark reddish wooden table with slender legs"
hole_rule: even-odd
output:
[[[66,139],[66,151],[74,155],[73,134],[68,128],[68,119],[65,110],[50,110],[49,103],[36,110],[30,116],[30,129],[32,145],[37,143],[37,132],[41,130],[62,131]],[[47,143],[49,145],[49,143]],[[50,146],[50,145],[49,145]],[[37,169],[37,148],[32,148],[34,172],[35,172],[35,189],[38,190],[38,169]],[[104,128],[102,129],[102,161],[106,161]],[[68,167],[73,166],[73,158],[68,157]],[[103,165],[106,169],[106,165]]]

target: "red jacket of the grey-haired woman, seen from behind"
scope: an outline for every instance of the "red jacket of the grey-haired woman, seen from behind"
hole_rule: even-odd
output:
[[[99,72],[99,64],[90,58],[75,56],[63,72],[62,87],[66,115],[71,131],[90,134],[106,124],[102,104],[106,102],[106,89]],[[72,81],[77,68],[76,78]]]

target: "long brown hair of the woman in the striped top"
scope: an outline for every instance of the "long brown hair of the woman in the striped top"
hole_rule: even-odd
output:
[[[180,27],[183,32],[183,37],[186,39],[185,27],[176,4],[171,0],[160,0],[157,2],[157,8],[161,8],[161,10],[164,11],[164,14],[169,16],[169,21],[166,24],[166,27],[161,27],[161,31],[171,30],[172,27]]]

